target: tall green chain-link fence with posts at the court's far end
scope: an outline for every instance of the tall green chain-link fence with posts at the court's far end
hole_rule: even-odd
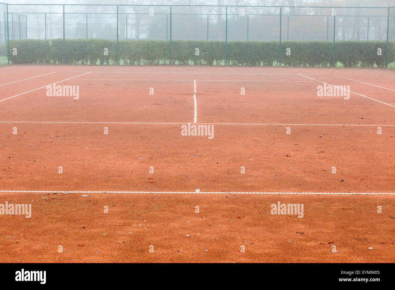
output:
[[[395,7],[0,4],[13,39],[166,40],[170,59],[172,40],[225,41],[225,65],[228,41],[329,41],[335,66],[337,41],[395,41]]]

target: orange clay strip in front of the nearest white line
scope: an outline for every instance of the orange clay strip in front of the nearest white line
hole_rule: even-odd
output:
[[[31,218],[1,216],[2,262],[395,260],[392,195],[12,193],[2,200],[32,204]],[[271,215],[278,201],[303,203],[303,218]]]

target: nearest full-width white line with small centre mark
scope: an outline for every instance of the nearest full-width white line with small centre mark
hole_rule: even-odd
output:
[[[35,190],[0,190],[10,193],[195,193],[195,191],[35,191]],[[232,192],[232,191],[200,191],[199,193],[219,194],[257,194],[257,195],[395,195],[395,193],[348,193],[348,192]]]

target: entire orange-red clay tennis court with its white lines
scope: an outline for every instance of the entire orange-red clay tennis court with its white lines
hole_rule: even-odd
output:
[[[2,262],[394,261],[391,70],[0,75],[1,203],[32,204],[31,218],[1,216]],[[54,83],[78,99],[47,96]],[[349,99],[318,96],[324,84]],[[188,123],[213,138],[183,136]],[[277,202],[303,204],[303,218],[272,215]]]

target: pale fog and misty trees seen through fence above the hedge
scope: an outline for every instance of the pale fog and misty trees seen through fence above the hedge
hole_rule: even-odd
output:
[[[384,41],[387,34],[386,7],[395,5],[393,0],[9,0],[8,3],[174,5],[171,11],[172,39],[183,40],[225,40],[226,8],[215,5],[237,5],[240,7],[228,7],[228,41],[278,41],[280,8],[243,7],[254,5],[296,6],[282,8],[282,40],[333,41],[335,24],[336,41]],[[338,8],[334,19],[333,6],[350,8]],[[154,15],[149,15],[150,8]],[[63,6],[9,5],[8,10],[9,39],[63,38]],[[394,41],[395,8],[391,9],[390,16],[389,40]],[[170,39],[170,7],[119,6],[118,17],[120,40]],[[65,6],[64,22],[67,39],[117,39],[116,6]],[[0,5],[0,44],[6,41],[6,25],[6,6]]]

